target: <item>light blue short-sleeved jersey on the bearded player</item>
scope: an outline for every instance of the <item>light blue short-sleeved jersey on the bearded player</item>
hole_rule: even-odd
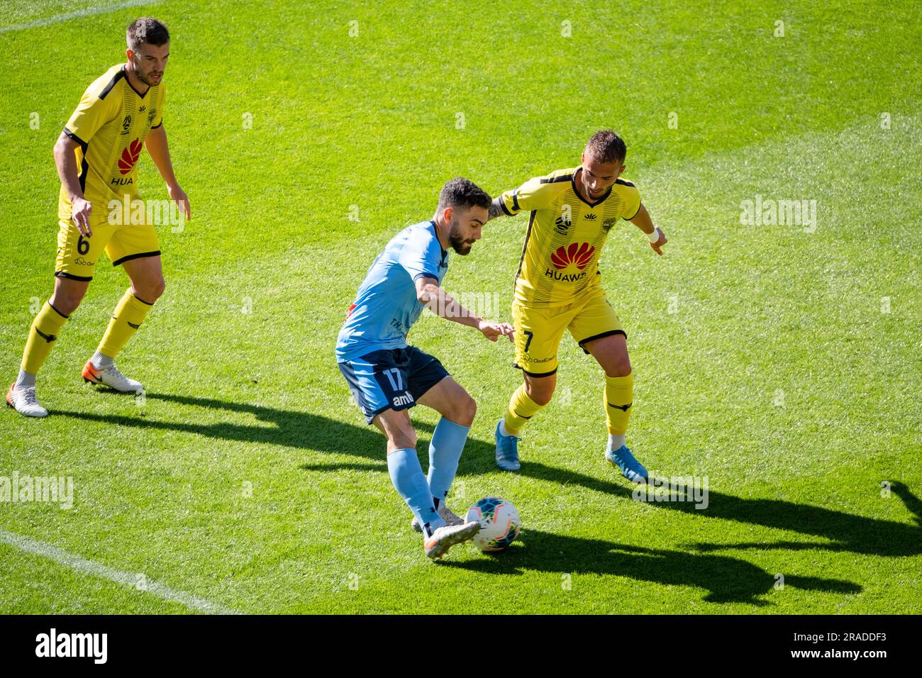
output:
[[[448,253],[433,221],[397,233],[368,269],[349,307],[337,339],[337,363],[372,351],[407,348],[409,328],[424,308],[416,298],[415,280],[434,278],[441,286],[447,270]]]

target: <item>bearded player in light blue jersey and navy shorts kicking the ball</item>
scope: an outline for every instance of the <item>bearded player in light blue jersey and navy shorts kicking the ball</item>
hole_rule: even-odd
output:
[[[487,221],[491,197],[467,179],[442,188],[429,221],[396,234],[361,283],[337,339],[337,363],[368,423],[387,436],[387,469],[396,491],[413,512],[432,559],[474,538],[478,522],[464,522],[445,505],[477,404],[431,355],[407,343],[423,307],[491,341],[513,339],[513,327],[470,313],[443,291],[448,248],[470,253]],[[417,403],[442,414],[429,446],[429,475],[416,454],[409,408]]]

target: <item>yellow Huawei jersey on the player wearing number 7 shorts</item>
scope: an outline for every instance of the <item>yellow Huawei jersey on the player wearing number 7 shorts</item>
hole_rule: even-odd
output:
[[[530,211],[522,258],[515,274],[515,301],[532,308],[562,306],[598,287],[598,258],[611,227],[640,210],[640,193],[617,179],[588,202],[576,190],[578,167],[529,179],[501,196],[509,216]]]

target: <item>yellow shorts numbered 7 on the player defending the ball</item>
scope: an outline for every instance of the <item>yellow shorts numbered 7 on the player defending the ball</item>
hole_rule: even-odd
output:
[[[563,330],[585,351],[585,343],[614,334],[627,333],[605,296],[597,288],[585,299],[555,308],[527,308],[513,302],[515,366],[529,376],[550,376],[557,372],[557,351]],[[589,351],[585,351],[588,353]]]

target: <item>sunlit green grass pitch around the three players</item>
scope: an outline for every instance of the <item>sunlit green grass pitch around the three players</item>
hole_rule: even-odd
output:
[[[118,359],[146,401],[79,378],[126,286],[103,261],[39,376],[52,416],[0,412],[0,476],[75,483],[70,510],[0,503],[0,613],[202,609],[9,535],[242,613],[922,613],[918,6],[166,0],[22,28],[72,6],[7,5],[6,379],[52,291],[54,140],[144,14],[171,29],[164,124],[193,220],[160,231],[167,291]],[[479,405],[452,505],[499,494],[523,519],[507,553],[433,565],[337,330],[447,179],[496,195],[576,165],[602,127],[669,237],[657,257],[621,222],[600,264],[630,339],[628,441],[658,475],[706,476],[709,505],[632,501],[602,455],[602,372],[569,338],[522,471],[497,470],[512,346],[430,315],[413,343]],[[146,153],[141,189],[166,197]],[[741,224],[756,196],[815,200],[815,231]],[[492,221],[446,289],[509,320],[525,231]],[[438,415],[412,414],[425,468]]]

